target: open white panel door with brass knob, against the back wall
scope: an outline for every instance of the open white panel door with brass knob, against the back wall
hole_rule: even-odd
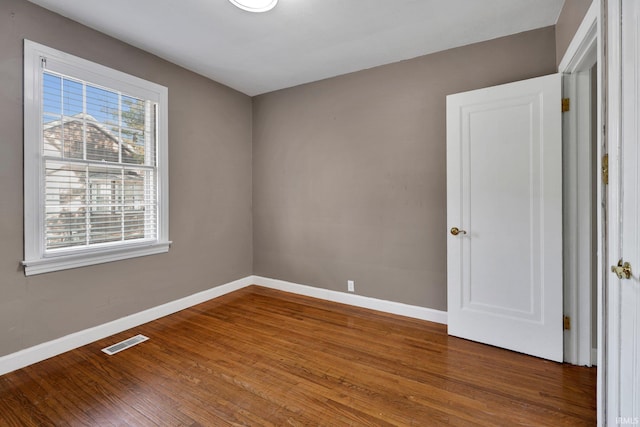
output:
[[[447,97],[449,334],[558,362],[560,101],[560,74]]]

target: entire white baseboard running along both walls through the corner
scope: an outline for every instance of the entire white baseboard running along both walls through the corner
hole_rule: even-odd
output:
[[[444,311],[417,307],[398,302],[384,301],[362,295],[314,288],[312,286],[285,282],[283,280],[269,279],[260,276],[247,276],[243,279],[216,286],[215,288],[198,292],[197,294],[180,298],[118,320],[104,323],[93,328],[75,332],[52,341],[47,341],[33,347],[25,348],[24,350],[2,356],[0,357],[0,375],[15,371],[16,369],[24,368],[25,366],[57,356],[58,354],[73,350],[74,348],[126,331],[127,329],[135,328],[136,326],[176,313],[180,310],[184,310],[185,308],[209,301],[230,292],[237,291],[249,285],[259,285],[266,288],[279,289],[281,291],[320,298],[327,301],[369,308],[371,310],[428,320],[445,325],[447,324],[447,313]]]

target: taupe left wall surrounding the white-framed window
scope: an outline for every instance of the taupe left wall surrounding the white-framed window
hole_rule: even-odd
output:
[[[24,276],[23,38],[169,88],[169,253]],[[0,130],[0,355],[251,274],[248,96],[25,0],[2,0]]]

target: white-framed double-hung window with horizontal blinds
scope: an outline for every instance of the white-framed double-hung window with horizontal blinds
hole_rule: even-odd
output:
[[[25,274],[167,252],[167,88],[24,47]]]

